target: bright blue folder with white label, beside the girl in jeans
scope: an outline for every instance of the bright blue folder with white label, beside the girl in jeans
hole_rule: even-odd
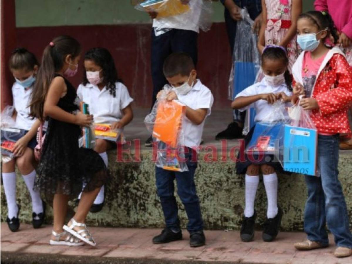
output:
[[[283,167],[285,171],[316,175],[317,132],[285,125]]]

